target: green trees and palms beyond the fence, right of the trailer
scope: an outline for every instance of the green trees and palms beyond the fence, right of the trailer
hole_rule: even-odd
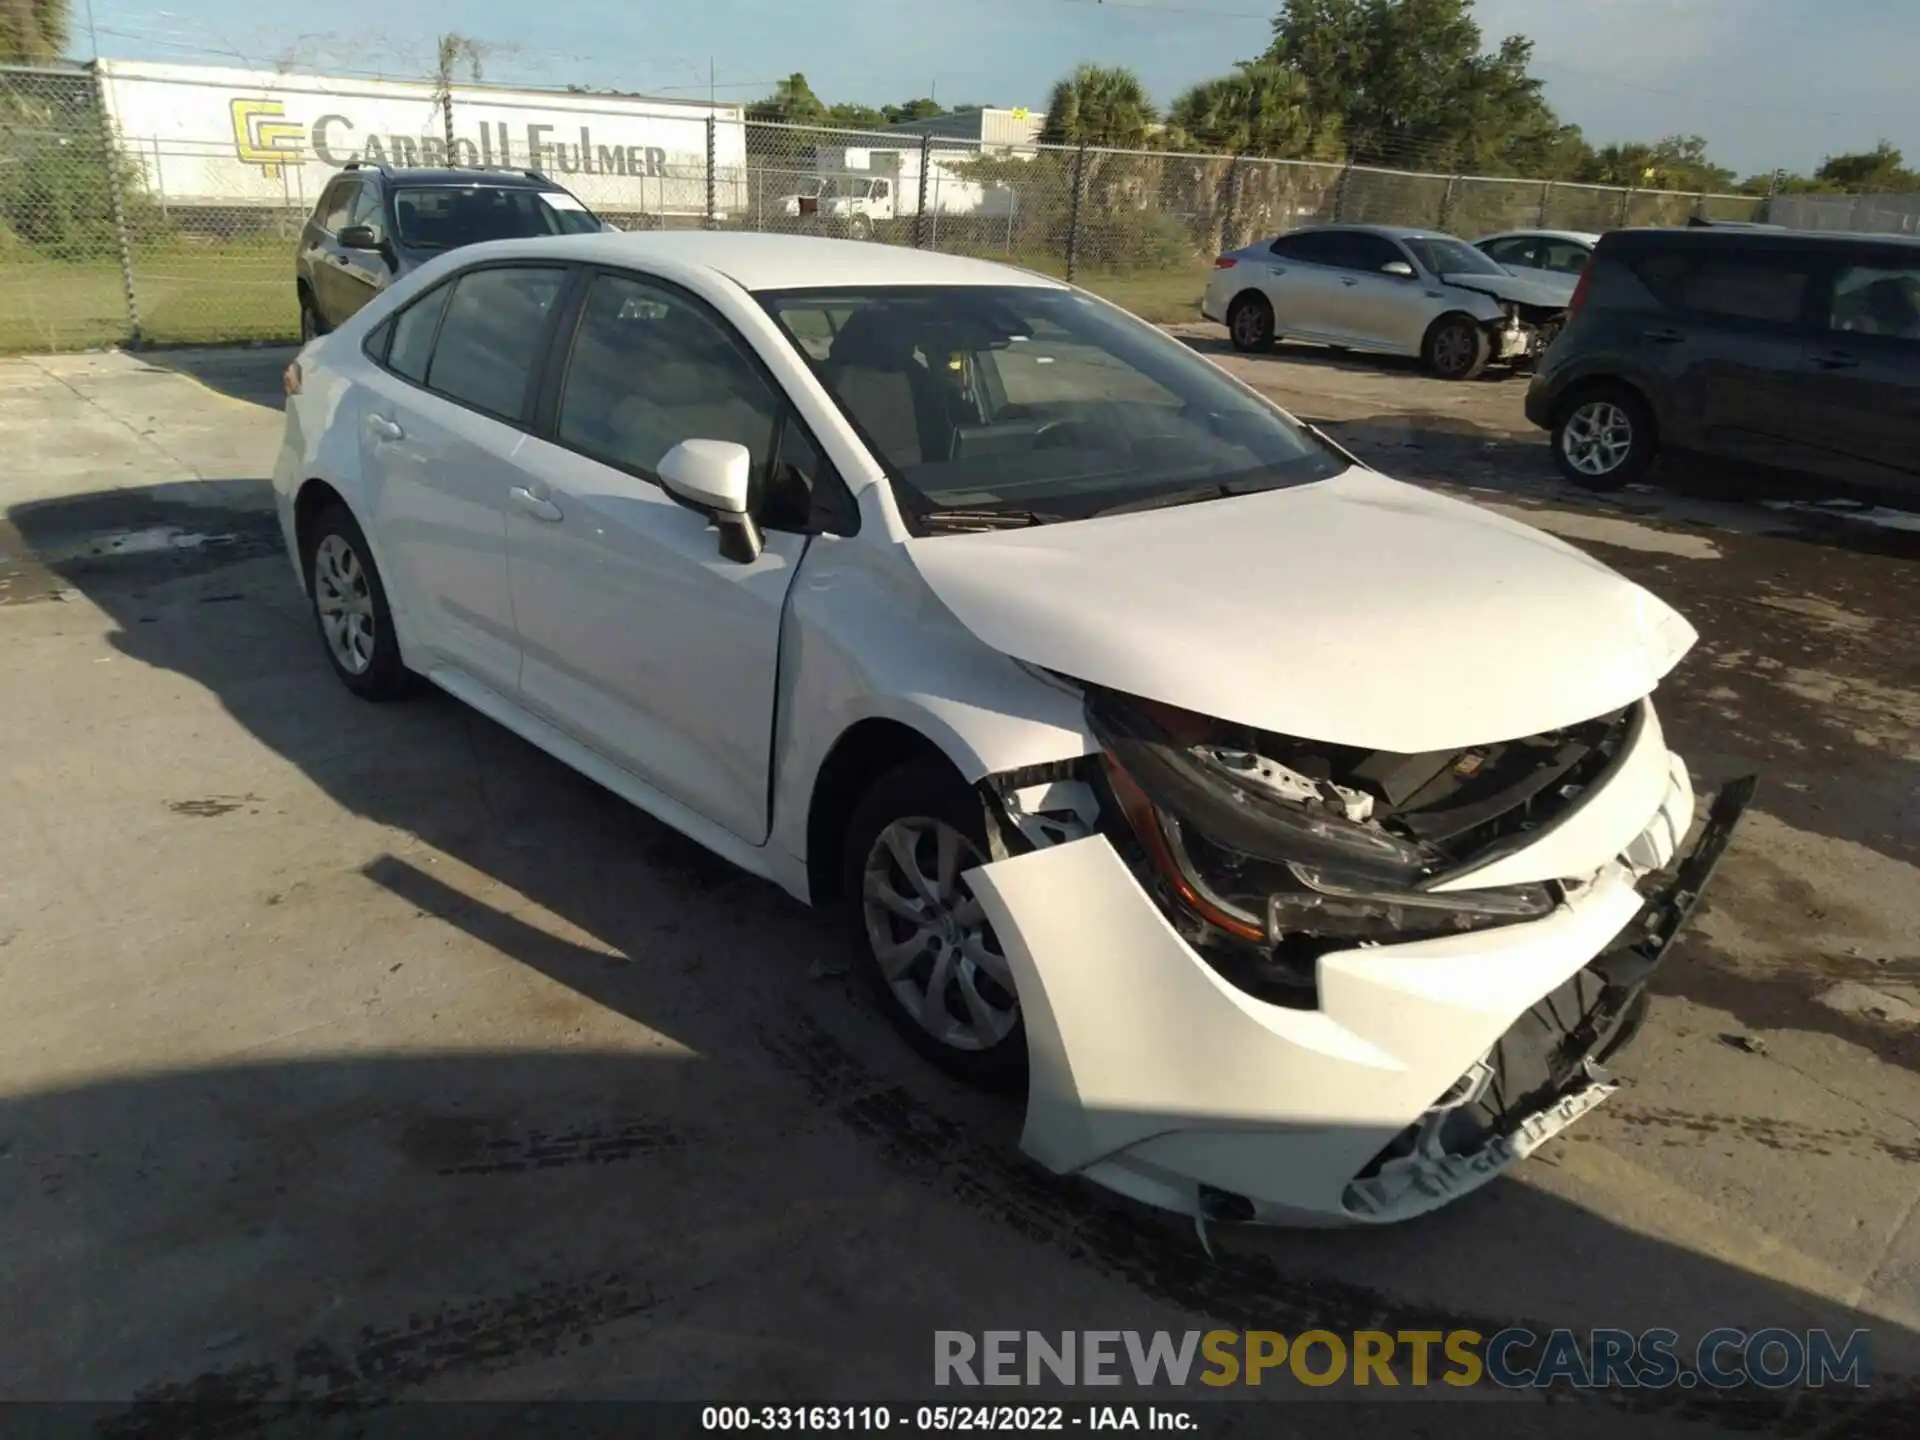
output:
[[[1123,65],[1075,67],[1052,86],[1041,138],[1642,190],[1920,190],[1920,173],[1885,142],[1830,156],[1812,175],[1745,179],[1716,163],[1697,134],[1594,144],[1553,113],[1530,71],[1532,52],[1524,35],[1488,50],[1473,0],[1284,0],[1261,54],[1188,86],[1165,109]],[[877,108],[828,104],[799,73],[747,108],[755,121],[839,129],[943,113],[952,111],[931,98]]]

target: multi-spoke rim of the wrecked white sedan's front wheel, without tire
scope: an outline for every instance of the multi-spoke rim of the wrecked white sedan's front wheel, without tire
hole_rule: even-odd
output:
[[[1014,972],[960,879],[983,860],[943,820],[904,816],[879,831],[862,870],[860,914],[887,989],[954,1050],[987,1050],[1020,1021]]]

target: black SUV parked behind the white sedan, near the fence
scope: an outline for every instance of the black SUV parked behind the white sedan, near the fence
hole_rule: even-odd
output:
[[[611,228],[538,171],[422,171],[349,161],[300,230],[300,338],[340,324],[407,271],[480,240]]]

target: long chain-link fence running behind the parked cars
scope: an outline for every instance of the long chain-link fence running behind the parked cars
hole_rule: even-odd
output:
[[[328,96],[353,92],[324,84]],[[422,100],[417,134],[388,134],[378,154],[361,136],[365,157],[540,165],[620,228],[831,234],[1008,261],[1154,321],[1196,313],[1223,250],[1311,221],[1473,238],[1695,215],[1753,221],[1768,205],[1757,196],[766,125],[724,106],[680,106],[647,121],[660,144],[611,146],[593,134],[620,134],[634,121],[601,98],[568,98],[578,111],[568,131],[536,154],[520,142],[509,154],[507,123],[492,115],[515,102],[478,98],[455,115],[463,104]],[[482,142],[497,132],[499,144],[480,154],[455,136],[455,119]],[[340,159],[319,125],[311,136],[294,129],[301,138],[275,154],[248,152],[238,113],[232,132],[125,134],[92,71],[0,67],[0,351],[294,338],[296,236]],[[1839,204],[1853,205],[1849,219],[1878,217],[1866,202]],[[1837,215],[1826,219],[1837,227]],[[1884,228],[1912,228],[1912,219]]]

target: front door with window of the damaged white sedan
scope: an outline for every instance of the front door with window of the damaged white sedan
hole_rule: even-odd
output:
[[[597,275],[553,440],[522,447],[507,522],[520,703],[755,845],[768,833],[781,611],[806,540],[768,530],[758,559],[728,559],[657,467],[682,440],[730,440],[766,476],[783,413],[703,301]]]

